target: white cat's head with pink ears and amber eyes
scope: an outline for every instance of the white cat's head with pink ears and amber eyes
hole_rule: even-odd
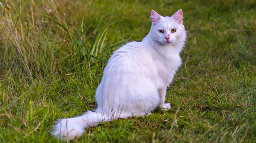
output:
[[[182,10],[171,17],[163,17],[154,10],[151,11],[152,26],[150,36],[160,45],[172,45],[185,41]]]

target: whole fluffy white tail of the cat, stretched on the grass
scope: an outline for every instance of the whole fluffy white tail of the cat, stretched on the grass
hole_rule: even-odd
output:
[[[109,121],[106,118],[102,112],[87,111],[84,115],[57,121],[52,134],[61,140],[72,140],[81,136],[85,132],[85,128]]]

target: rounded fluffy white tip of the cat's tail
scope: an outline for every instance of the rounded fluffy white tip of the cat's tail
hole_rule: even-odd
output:
[[[78,124],[67,119],[61,119],[55,124],[52,134],[55,138],[60,138],[61,140],[72,140],[81,136],[84,132],[85,130]]]

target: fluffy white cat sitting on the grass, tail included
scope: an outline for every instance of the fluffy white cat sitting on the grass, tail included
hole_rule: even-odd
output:
[[[150,32],[141,42],[123,45],[108,60],[96,91],[97,109],[59,120],[52,132],[56,138],[71,140],[100,122],[171,108],[165,94],[182,63],[179,55],[186,40],[182,10],[172,17],[152,10],[151,18]]]

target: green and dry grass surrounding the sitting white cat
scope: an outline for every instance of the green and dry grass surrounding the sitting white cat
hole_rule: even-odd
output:
[[[60,142],[54,122],[96,105],[111,53],[182,9],[188,40],[172,109],[91,127],[72,142],[256,142],[253,0],[9,0],[0,5],[0,142]]]

